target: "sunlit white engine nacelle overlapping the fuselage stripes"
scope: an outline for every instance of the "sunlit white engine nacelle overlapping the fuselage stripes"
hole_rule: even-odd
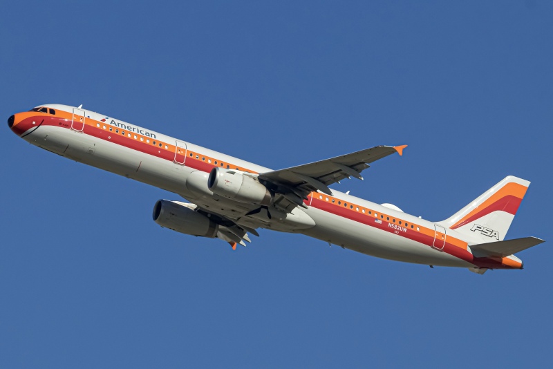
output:
[[[219,196],[249,204],[270,205],[273,200],[267,187],[250,176],[232,170],[212,169],[207,187]]]

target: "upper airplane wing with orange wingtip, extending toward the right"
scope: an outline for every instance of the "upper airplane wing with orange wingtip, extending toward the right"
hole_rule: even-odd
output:
[[[332,195],[328,185],[350,177],[362,180],[360,173],[369,167],[368,163],[393,153],[402,155],[406,146],[375,146],[319,162],[268,171],[259,174],[259,181],[295,205],[303,206],[303,199],[310,192],[319,190]]]

